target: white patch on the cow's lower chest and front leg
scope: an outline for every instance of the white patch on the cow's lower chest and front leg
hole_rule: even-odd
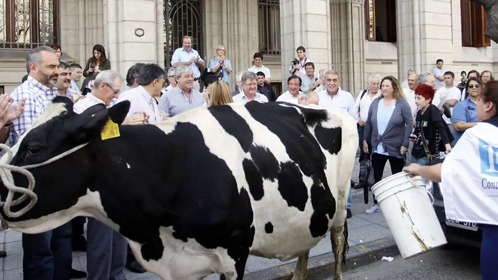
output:
[[[195,239],[183,242],[173,237],[171,227],[160,227],[159,234],[164,245],[163,256],[158,261],[145,261],[142,245],[127,239],[133,254],[148,271],[163,279],[202,279],[212,273],[226,273],[227,280],[235,280],[235,261],[224,248],[206,249]]]

